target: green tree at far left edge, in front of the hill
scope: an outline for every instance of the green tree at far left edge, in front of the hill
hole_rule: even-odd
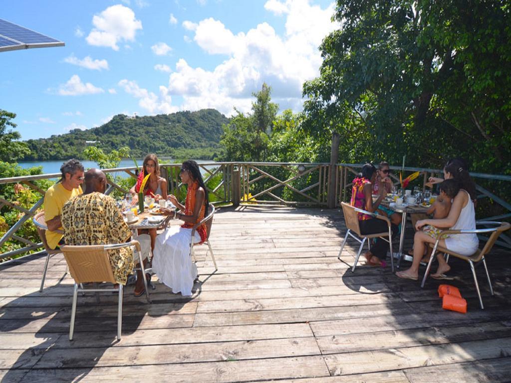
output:
[[[15,117],[15,113],[0,109],[0,161],[15,162],[30,154],[27,144],[18,141],[21,135],[8,129],[8,127],[16,127],[16,124],[11,121]]]

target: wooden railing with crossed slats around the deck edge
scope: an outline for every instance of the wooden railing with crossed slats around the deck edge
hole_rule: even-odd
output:
[[[200,163],[205,184],[208,187],[210,200],[214,204],[231,203],[237,205],[287,205],[287,206],[328,206],[329,196],[335,197],[335,206],[341,201],[346,201],[351,196],[351,182],[360,171],[362,164],[338,163],[330,172],[329,163],[291,163],[291,162],[206,162]],[[179,180],[180,164],[161,164],[161,176],[168,180],[168,192],[183,199],[183,190]],[[399,171],[401,167],[390,166],[391,170]],[[421,169],[405,167],[405,172],[422,172],[421,182],[424,183],[431,175],[442,175],[438,169]],[[136,177],[135,167],[122,167],[104,170],[107,174],[126,173]],[[497,215],[484,214],[482,211],[478,220],[509,220],[511,218],[511,204],[498,196],[496,190],[511,190],[511,176],[471,173],[476,181],[479,200],[491,200],[497,204],[501,213]],[[399,184],[399,178],[394,172],[391,175]],[[34,181],[42,179],[60,178],[60,174],[44,174],[37,176],[23,176],[0,179],[2,184],[22,183],[38,193],[41,198],[31,207],[19,206],[16,201],[8,201],[0,198],[0,208],[9,206],[20,213],[19,220],[7,230],[0,238],[0,246],[7,241],[16,241],[23,247],[0,254],[0,259],[18,254],[32,252],[42,247],[41,243],[34,242],[30,238],[16,235],[16,232],[35,213],[41,209],[44,190],[41,190]],[[120,193],[128,193],[115,181],[108,180],[107,194],[117,189]],[[502,187],[490,187],[486,184],[498,183]],[[334,196],[332,196],[332,193]],[[509,193],[509,192],[508,192]],[[333,199],[331,199],[333,200]],[[490,215],[491,217],[488,217]],[[484,238],[481,238],[484,239]],[[501,235],[499,245],[511,248],[511,238]]]

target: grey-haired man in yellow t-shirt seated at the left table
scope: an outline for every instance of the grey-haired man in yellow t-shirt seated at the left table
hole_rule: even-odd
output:
[[[46,241],[51,249],[55,249],[62,239],[62,223],[60,216],[62,207],[72,197],[82,194],[84,174],[83,165],[76,159],[70,159],[60,166],[62,178],[51,186],[44,195],[44,220],[48,226]]]

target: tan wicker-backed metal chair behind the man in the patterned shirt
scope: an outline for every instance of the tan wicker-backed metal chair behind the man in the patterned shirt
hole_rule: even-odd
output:
[[[78,299],[78,292],[118,292],[118,313],[117,313],[117,339],[121,339],[122,328],[122,313],[123,313],[123,285],[119,283],[118,288],[113,289],[83,289],[80,288],[81,283],[89,282],[110,282],[117,283],[113,276],[112,267],[110,265],[110,258],[107,250],[121,249],[124,247],[134,246],[137,250],[138,261],[142,268],[142,275],[144,276],[144,284],[146,288],[147,301],[149,302],[149,292],[147,289],[147,282],[145,279],[144,264],[142,262],[142,253],[140,243],[132,240],[124,244],[113,245],[91,245],[91,246],[62,246],[61,250],[64,253],[65,260],[69,266],[71,276],[75,280],[75,288],[73,292],[73,306],[71,312],[71,327],[69,327],[69,340],[73,340],[73,332],[75,329],[76,317],[76,303]]]

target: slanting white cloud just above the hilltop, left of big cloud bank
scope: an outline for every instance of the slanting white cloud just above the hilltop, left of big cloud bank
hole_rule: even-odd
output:
[[[139,87],[135,81],[124,79],[119,81],[119,86],[122,87],[126,93],[139,99],[138,105],[149,113],[173,113],[179,110],[176,106],[172,106],[169,89],[165,86],[160,85],[159,95]]]

